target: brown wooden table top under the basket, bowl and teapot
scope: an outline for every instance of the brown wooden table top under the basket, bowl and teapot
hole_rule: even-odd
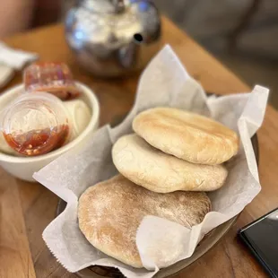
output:
[[[163,42],[174,48],[189,73],[206,91],[217,94],[249,91],[246,84],[165,18],[163,28]],[[5,41],[13,48],[39,53],[42,60],[69,64],[76,79],[91,86],[98,95],[101,125],[131,109],[138,76],[106,82],[86,74],[75,64],[60,25],[33,30]],[[21,74],[17,74],[9,86],[21,81]],[[278,113],[268,107],[264,126],[258,132],[261,193],[221,243],[176,277],[266,277],[260,265],[237,242],[236,232],[278,206],[277,118]],[[41,238],[42,231],[56,217],[56,195],[39,184],[16,180],[0,169],[0,198],[0,277],[76,277],[56,262]]]

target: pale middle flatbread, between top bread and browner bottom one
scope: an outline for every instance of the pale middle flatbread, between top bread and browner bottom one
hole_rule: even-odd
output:
[[[138,135],[126,135],[112,149],[117,170],[135,184],[159,193],[213,191],[227,178],[222,165],[194,164],[161,152]]]

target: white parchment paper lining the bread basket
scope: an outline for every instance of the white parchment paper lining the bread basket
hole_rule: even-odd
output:
[[[70,272],[89,265],[107,265],[117,267],[126,277],[143,278],[152,277],[158,266],[168,266],[191,256],[205,233],[240,213],[261,189],[250,138],[262,125],[267,98],[268,90],[261,86],[256,86],[251,93],[207,98],[172,49],[163,48],[144,70],[135,106],[119,126],[103,126],[82,150],[67,152],[34,174],[42,185],[67,202],[64,213],[43,232],[48,248]],[[157,106],[213,117],[236,130],[241,144],[239,154],[227,162],[229,177],[225,186],[209,194],[213,212],[205,216],[204,222],[189,230],[152,215],[143,219],[136,243],[145,268],[135,269],[101,253],[83,237],[78,228],[78,198],[87,187],[117,174],[111,159],[113,143],[132,132],[136,114]]]

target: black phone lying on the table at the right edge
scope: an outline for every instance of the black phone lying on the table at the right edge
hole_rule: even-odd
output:
[[[278,208],[240,229],[239,239],[265,271],[278,278]]]

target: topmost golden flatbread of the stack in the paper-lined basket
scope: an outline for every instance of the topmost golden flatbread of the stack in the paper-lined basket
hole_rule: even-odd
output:
[[[221,164],[239,150],[238,135],[230,128],[180,109],[145,110],[133,128],[153,147],[192,163]]]

